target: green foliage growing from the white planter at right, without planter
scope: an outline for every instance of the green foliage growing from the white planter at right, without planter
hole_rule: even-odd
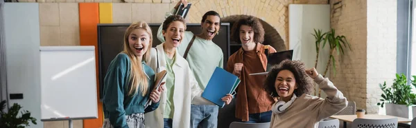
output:
[[[416,76],[413,76],[413,81],[410,81],[413,86],[416,87]],[[381,103],[377,103],[381,107],[384,107],[385,103],[392,103],[396,105],[415,105],[416,94],[412,93],[412,87],[407,85],[407,78],[404,74],[396,74],[396,78],[393,81],[391,87],[379,84],[383,94],[381,94]]]

